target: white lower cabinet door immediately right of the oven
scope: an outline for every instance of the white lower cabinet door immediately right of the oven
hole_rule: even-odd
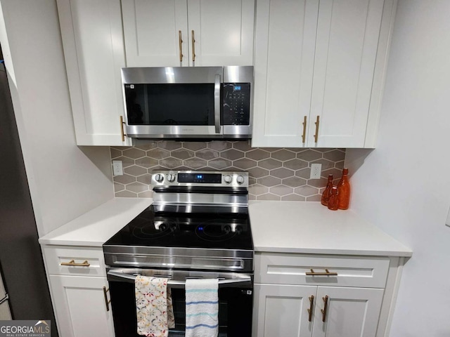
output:
[[[253,337],[311,336],[316,286],[255,284],[254,289]]]

